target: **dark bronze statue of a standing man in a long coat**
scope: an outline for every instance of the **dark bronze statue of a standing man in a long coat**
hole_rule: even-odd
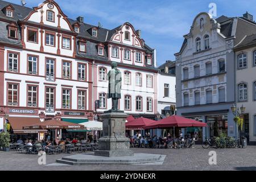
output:
[[[111,67],[107,77],[109,80],[108,98],[112,98],[112,111],[117,111],[118,100],[121,98],[122,77],[121,72],[117,69],[117,63],[113,62]]]

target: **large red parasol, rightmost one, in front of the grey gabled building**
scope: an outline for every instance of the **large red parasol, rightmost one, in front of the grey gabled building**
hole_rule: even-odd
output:
[[[143,129],[159,129],[167,127],[206,127],[206,123],[183,118],[177,115],[161,119],[143,127]]]

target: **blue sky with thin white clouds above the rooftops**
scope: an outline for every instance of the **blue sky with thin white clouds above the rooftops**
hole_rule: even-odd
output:
[[[20,4],[20,0],[5,0]],[[44,0],[26,0],[27,7],[38,6]],[[64,13],[76,19],[84,16],[85,23],[113,29],[130,22],[142,31],[146,44],[157,51],[158,65],[175,60],[183,35],[189,32],[193,18],[209,11],[209,3],[216,3],[217,16],[242,16],[246,11],[255,15],[255,0],[56,0]]]

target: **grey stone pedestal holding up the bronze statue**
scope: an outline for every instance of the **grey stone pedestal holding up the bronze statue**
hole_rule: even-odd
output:
[[[132,156],[130,139],[125,137],[125,121],[129,115],[122,111],[104,113],[103,134],[99,139],[99,150],[94,152],[96,156],[118,157]]]

